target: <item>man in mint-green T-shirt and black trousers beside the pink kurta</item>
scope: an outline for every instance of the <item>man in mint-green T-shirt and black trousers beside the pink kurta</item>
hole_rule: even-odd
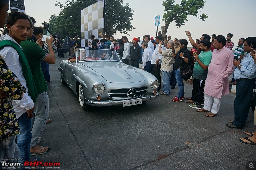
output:
[[[189,107],[196,109],[201,109],[201,104],[204,102],[204,83],[207,78],[208,66],[212,59],[211,42],[209,40],[201,40],[199,45],[200,54],[193,53],[196,62],[193,69],[192,97],[186,101],[186,103],[191,103]]]

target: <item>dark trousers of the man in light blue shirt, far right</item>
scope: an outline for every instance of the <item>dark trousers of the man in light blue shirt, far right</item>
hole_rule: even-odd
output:
[[[235,119],[232,124],[237,127],[243,127],[247,120],[254,83],[255,79],[245,79],[236,83],[236,98],[234,100]]]

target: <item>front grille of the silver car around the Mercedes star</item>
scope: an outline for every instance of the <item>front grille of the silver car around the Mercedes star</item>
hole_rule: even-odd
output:
[[[133,97],[128,96],[128,91],[131,89],[136,89],[136,94]],[[147,93],[148,89],[147,87],[136,87],[136,88],[129,88],[129,89],[116,89],[111,90],[108,93],[108,97],[112,99],[131,99],[131,98],[137,98],[144,96]]]

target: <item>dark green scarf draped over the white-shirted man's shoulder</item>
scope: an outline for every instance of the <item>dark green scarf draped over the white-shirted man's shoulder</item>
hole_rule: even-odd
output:
[[[19,54],[20,63],[21,63],[21,66],[22,66],[22,72],[23,72],[23,75],[24,75],[24,78],[26,80],[27,87],[28,87],[28,94],[29,94],[29,96],[31,96],[33,102],[35,103],[36,98],[38,96],[38,93],[36,91],[36,85],[35,85],[30,67],[28,65],[28,60],[25,57],[25,54],[20,49],[20,47],[16,43],[12,42],[11,40],[2,40],[2,41],[0,41],[0,49],[4,48],[5,46],[13,47],[17,51],[17,53]]]

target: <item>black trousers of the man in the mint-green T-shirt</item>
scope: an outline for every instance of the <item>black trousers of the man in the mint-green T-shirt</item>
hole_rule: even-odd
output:
[[[198,80],[194,77],[191,100],[196,102],[196,105],[199,106],[201,106],[202,102],[204,101],[204,84],[205,80]]]

